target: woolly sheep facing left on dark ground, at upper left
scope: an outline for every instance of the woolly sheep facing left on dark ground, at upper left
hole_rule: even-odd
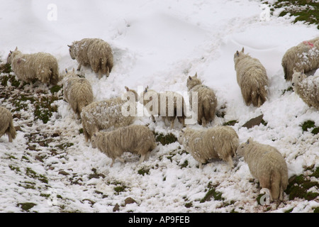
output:
[[[34,79],[45,84],[56,85],[59,82],[59,67],[57,59],[45,52],[23,54],[16,50],[9,52],[7,62],[11,64],[18,79],[29,83]]]

